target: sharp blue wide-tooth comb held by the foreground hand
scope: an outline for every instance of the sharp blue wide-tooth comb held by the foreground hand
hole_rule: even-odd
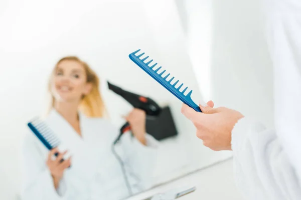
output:
[[[200,107],[191,99],[192,90],[187,95],[185,95],[184,92],[187,90],[188,87],[186,87],[183,91],[180,91],[180,88],[183,86],[183,83],[178,88],[176,88],[176,84],[179,82],[179,80],[172,84],[171,82],[175,77],[172,77],[169,80],[167,80],[170,73],[168,73],[165,76],[163,76],[163,74],[166,72],[166,70],[163,70],[162,72],[158,73],[162,67],[160,66],[155,70],[154,67],[157,65],[157,63],[153,64],[152,66],[149,66],[148,64],[152,62],[153,59],[145,63],[144,60],[146,60],[148,56],[144,57],[143,59],[140,59],[144,52],[139,55],[135,55],[135,53],[137,53],[138,51],[140,51],[140,49],[128,55],[133,62],[135,62],[141,69],[148,73],[148,75],[152,76],[155,80],[157,80],[157,82],[159,82],[162,86],[164,86],[182,102],[189,105],[196,111],[202,112]]]

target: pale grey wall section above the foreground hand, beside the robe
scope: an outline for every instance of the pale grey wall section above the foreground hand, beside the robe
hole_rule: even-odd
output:
[[[260,0],[213,1],[212,98],[271,127],[272,64],[261,8]]]

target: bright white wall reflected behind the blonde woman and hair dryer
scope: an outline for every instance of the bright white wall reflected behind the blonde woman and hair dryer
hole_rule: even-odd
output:
[[[176,7],[172,0],[164,2],[154,1],[158,7],[152,9],[161,12],[152,14],[147,9],[152,4],[139,0],[5,1],[0,13],[4,30],[0,31],[0,199],[14,199],[19,190],[20,143],[26,122],[45,107],[48,75],[55,62],[70,54],[86,60],[102,80],[172,106],[180,133],[160,149],[154,174],[158,181],[228,156],[203,147],[193,125],[180,113],[181,102],[128,58],[130,52],[142,48],[194,89],[193,98],[198,101],[201,93],[184,49]],[[120,125],[120,115],[130,106],[102,87],[110,116]]]

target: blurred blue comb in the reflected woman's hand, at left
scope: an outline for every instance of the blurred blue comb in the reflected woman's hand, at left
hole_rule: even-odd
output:
[[[61,143],[55,133],[40,118],[34,118],[28,122],[27,125],[49,150],[57,147]],[[58,156],[58,154],[59,153],[55,153],[55,156]]]

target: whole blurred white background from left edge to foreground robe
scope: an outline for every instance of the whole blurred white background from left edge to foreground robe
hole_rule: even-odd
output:
[[[231,157],[204,147],[182,102],[129,58],[141,49],[193,89],[272,126],[272,67],[260,0],[1,0],[0,199],[17,199],[26,123],[46,109],[55,63],[77,55],[101,79],[111,120],[132,108],[106,81],[171,108],[178,134],[160,141],[154,185]],[[260,112],[258,110],[265,110]]]

